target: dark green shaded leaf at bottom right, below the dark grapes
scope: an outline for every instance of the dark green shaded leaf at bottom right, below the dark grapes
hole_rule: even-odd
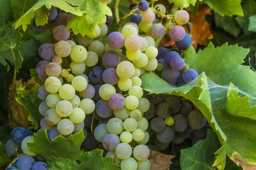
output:
[[[191,148],[180,151],[181,169],[216,169],[212,167],[212,164],[215,159],[214,152],[216,152],[218,148],[220,148],[218,137],[212,130],[208,130],[206,139],[198,141]]]

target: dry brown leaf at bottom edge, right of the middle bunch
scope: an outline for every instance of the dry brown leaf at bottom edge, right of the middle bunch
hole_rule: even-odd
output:
[[[156,152],[154,150],[150,151],[149,160],[151,163],[150,170],[166,170],[169,169],[170,164],[172,164],[173,155],[166,155],[161,152]]]

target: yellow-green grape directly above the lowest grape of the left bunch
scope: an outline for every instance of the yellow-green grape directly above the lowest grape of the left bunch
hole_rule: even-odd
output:
[[[59,101],[56,105],[56,113],[60,117],[68,117],[73,110],[73,106],[69,101]]]

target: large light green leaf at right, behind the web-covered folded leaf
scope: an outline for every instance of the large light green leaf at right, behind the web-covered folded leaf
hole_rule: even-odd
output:
[[[212,43],[198,50],[196,53],[193,47],[184,52],[184,58],[189,67],[202,73],[203,71],[212,81],[220,85],[234,83],[236,87],[256,96],[256,73],[250,66],[243,66],[244,58],[249,49],[227,43],[217,46]]]

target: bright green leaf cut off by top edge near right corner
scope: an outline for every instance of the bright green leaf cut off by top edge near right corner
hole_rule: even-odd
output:
[[[209,5],[210,8],[221,16],[244,15],[241,0],[204,0],[204,3]]]

